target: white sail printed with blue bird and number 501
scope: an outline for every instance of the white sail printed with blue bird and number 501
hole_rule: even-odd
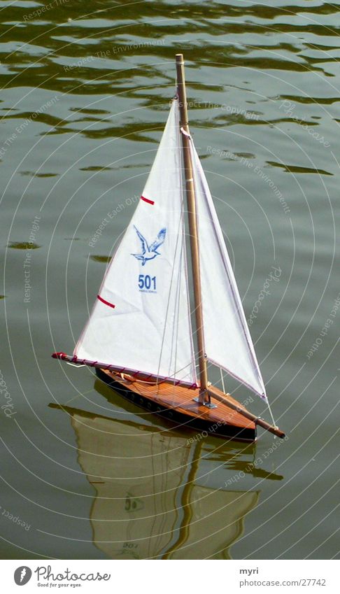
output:
[[[178,101],[74,355],[196,383],[187,288]]]

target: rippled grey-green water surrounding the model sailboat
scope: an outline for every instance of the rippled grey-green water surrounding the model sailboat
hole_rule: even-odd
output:
[[[84,6],[1,5],[1,556],[336,558],[339,2]],[[178,51],[283,442],[197,441],[50,358],[132,216]]]

